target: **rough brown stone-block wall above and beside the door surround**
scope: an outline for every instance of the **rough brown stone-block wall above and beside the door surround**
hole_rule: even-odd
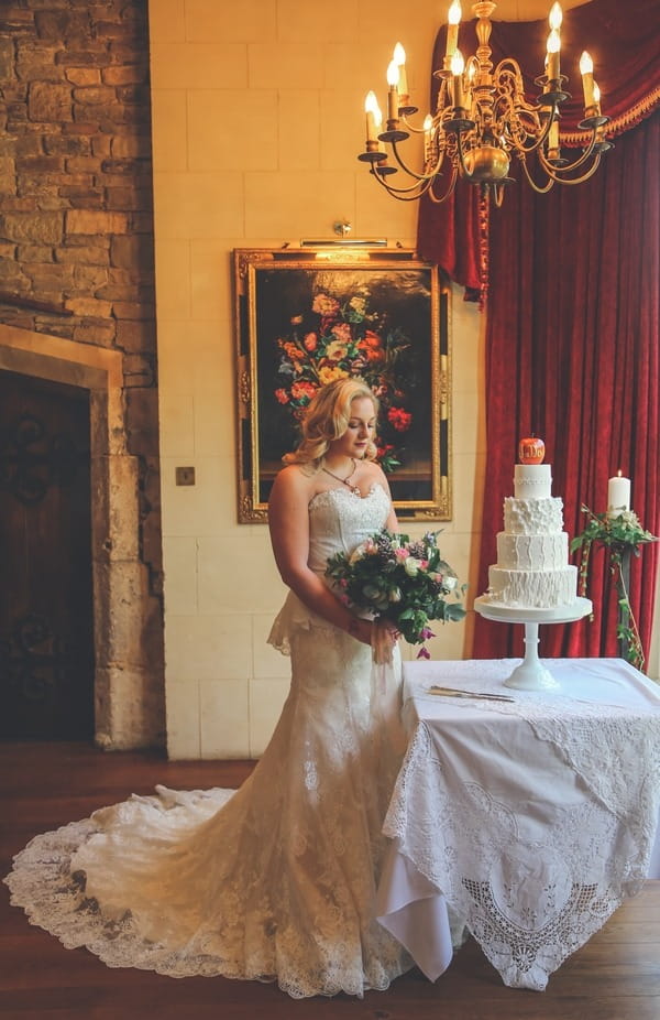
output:
[[[0,324],[121,355],[146,578],[129,658],[151,672],[153,702],[163,636],[146,0],[3,3],[0,99]],[[162,699],[160,718],[119,744],[162,740]]]

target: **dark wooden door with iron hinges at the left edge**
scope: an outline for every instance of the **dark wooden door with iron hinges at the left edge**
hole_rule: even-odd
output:
[[[0,371],[0,738],[94,737],[89,394]]]

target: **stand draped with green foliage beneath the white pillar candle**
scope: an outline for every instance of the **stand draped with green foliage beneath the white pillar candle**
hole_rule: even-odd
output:
[[[582,512],[588,514],[584,531],[571,542],[571,552],[582,550],[580,560],[580,595],[586,594],[588,565],[592,545],[597,543],[607,550],[609,573],[614,577],[618,597],[618,620],[616,636],[622,648],[622,658],[638,670],[644,669],[645,655],[635,615],[630,606],[628,587],[630,584],[630,558],[639,556],[640,545],[658,541],[657,535],[646,531],[634,510],[608,510],[594,513],[583,506]]]

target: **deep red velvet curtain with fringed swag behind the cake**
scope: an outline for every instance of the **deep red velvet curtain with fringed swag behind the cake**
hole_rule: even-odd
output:
[[[617,11],[619,7],[623,10]],[[569,29],[570,15],[580,12],[583,26]],[[597,12],[603,17],[598,19]],[[660,111],[653,112],[660,97],[659,21],[657,0],[626,4],[594,0],[564,15],[562,69],[569,66],[566,36],[576,41],[578,56],[590,48],[603,109],[614,115],[616,130],[624,133],[617,133],[615,148],[588,182],[556,185],[539,196],[519,181],[507,189],[503,208],[491,213],[488,456],[474,594],[487,587],[487,566],[495,562],[495,535],[502,530],[503,498],[513,492],[518,440],[529,432],[546,441],[553,492],[563,497],[571,535],[584,527],[582,503],[596,512],[605,509],[607,479],[617,469],[632,479],[631,506],[642,524],[659,533]],[[516,52],[510,44],[514,36],[530,33],[544,41],[547,23],[541,24],[542,33],[538,22],[496,24],[494,52],[499,28],[507,39],[504,55],[507,50]],[[601,31],[597,51],[592,48],[594,24],[607,30]],[[631,39],[635,34],[638,47]],[[520,62],[529,61],[539,46],[542,53],[542,42],[536,48],[518,42]],[[575,78],[580,86],[579,75]],[[574,82],[573,90],[578,91]],[[475,189],[463,186],[463,191],[468,194],[453,206],[420,208],[419,250],[458,282],[476,286]],[[657,557],[657,545],[647,545],[631,566],[630,600],[647,652]],[[617,654],[616,593],[603,552],[592,553],[592,561],[593,622],[541,628],[542,654]],[[520,653],[520,628],[477,617],[475,657]]]

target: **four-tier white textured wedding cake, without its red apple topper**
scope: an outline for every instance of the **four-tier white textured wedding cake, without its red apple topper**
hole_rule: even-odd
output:
[[[504,500],[497,563],[488,567],[488,600],[541,609],[575,601],[578,567],[569,563],[563,502],[551,496],[549,464],[517,464],[515,496]]]

